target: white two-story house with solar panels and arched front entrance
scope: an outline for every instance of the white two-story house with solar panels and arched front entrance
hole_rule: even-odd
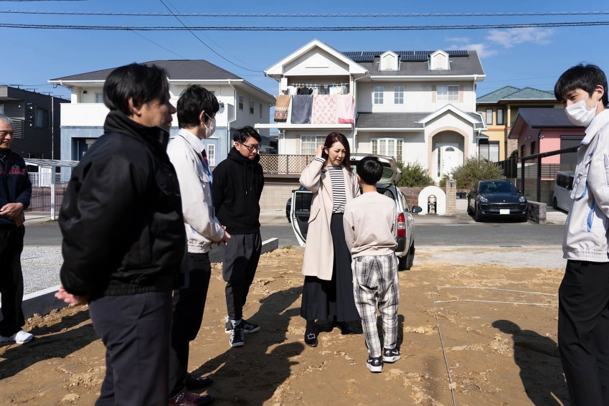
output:
[[[285,122],[258,124],[278,128],[280,154],[312,154],[329,132],[338,131],[351,152],[418,161],[440,180],[476,155],[479,139],[487,137],[476,113],[476,83],[485,78],[476,51],[339,52],[313,40],[265,73],[279,82],[278,94],[312,89],[313,111],[319,95],[350,94],[354,100],[353,124],[332,115],[327,122],[318,116],[292,123],[292,102]]]

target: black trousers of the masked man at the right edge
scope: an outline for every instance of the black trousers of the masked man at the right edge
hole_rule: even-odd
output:
[[[558,349],[572,406],[609,405],[609,262],[567,261]]]

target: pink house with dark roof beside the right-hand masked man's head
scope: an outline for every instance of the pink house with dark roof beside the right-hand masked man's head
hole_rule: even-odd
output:
[[[572,124],[561,108],[520,108],[507,138],[518,140],[521,157],[574,147],[584,135],[585,128]],[[576,163],[576,153],[541,159],[542,165],[554,164],[555,170],[573,170]]]

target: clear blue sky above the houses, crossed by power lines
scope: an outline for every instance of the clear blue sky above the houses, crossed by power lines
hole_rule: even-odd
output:
[[[166,0],[165,0],[166,1]],[[230,1],[169,0],[182,13],[463,13],[463,12],[583,12],[609,10],[605,1],[435,1],[385,0],[373,7],[369,0],[342,1]],[[348,8],[344,5],[348,4]],[[158,0],[0,1],[0,10],[64,10],[164,13]],[[184,20],[190,26],[435,26],[559,21],[609,21],[609,15],[485,16],[417,18],[201,18]],[[0,23],[73,24],[107,26],[178,26],[173,17],[59,16],[0,13]],[[197,35],[237,65],[269,68],[298,47],[317,38],[340,51],[475,49],[487,74],[478,95],[505,85],[551,90],[558,75],[580,61],[596,63],[609,74],[609,26],[525,29],[357,31],[357,32],[245,32],[205,31]],[[186,31],[141,32],[161,46],[189,59],[206,59],[275,94],[276,82],[232,65],[209,51]],[[68,95],[66,89],[45,85],[48,79],[133,61],[180,59],[175,54],[128,31],[9,29],[0,27],[5,60],[0,83],[23,84]],[[213,41],[213,42],[212,42]],[[215,43],[214,43],[215,42]],[[234,55],[234,56],[231,56]],[[235,58],[236,57],[236,58]],[[9,59],[10,58],[10,59]],[[238,59],[237,59],[238,58]],[[247,64],[247,65],[246,65]],[[34,86],[32,86],[34,85]],[[44,85],[44,86],[43,86]]]

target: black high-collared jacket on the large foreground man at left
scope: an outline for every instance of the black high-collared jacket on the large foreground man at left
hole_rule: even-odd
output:
[[[93,299],[172,290],[186,234],[169,133],[120,111],[108,113],[104,131],[63,196],[62,283]]]

